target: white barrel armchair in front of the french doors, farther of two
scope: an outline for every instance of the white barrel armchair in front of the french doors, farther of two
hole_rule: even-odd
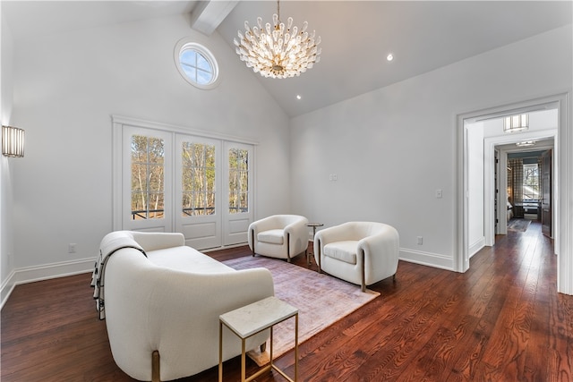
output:
[[[298,215],[273,215],[249,225],[252,256],[290,259],[308,248],[308,219]]]

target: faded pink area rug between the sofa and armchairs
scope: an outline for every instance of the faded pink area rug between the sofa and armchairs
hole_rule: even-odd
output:
[[[248,256],[224,263],[235,269],[269,269],[275,283],[275,296],[298,309],[299,344],[380,295],[370,290],[363,293],[359,285],[281,259]],[[276,325],[273,336],[273,359],[276,359],[295,347],[295,319],[289,318]],[[269,363],[269,349],[268,343],[266,352],[261,353],[257,349],[248,355],[259,366],[263,366]]]

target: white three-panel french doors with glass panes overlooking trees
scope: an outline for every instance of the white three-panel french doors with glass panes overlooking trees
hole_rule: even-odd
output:
[[[252,144],[114,126],[115,230],[180,232],[197,250],[247,242]]]

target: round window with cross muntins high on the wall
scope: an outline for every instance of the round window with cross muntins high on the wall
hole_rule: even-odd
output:
[[[185,81],[200,89],[212,89],[218,82],[218,64],[210,50],[183,39],[175,46],[175,64]]]

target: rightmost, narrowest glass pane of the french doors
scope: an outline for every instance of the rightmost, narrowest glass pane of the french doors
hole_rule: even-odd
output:
[[[229,149],[229,214],[249,211],[249,151]]]

